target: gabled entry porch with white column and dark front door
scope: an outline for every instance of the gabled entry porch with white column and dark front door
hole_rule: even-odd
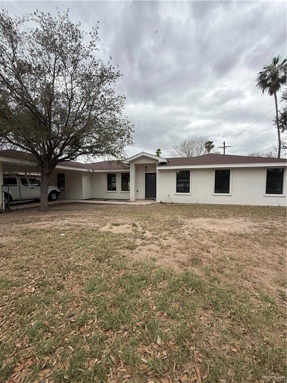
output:
[[[156,199],[156,166],[166,159],[142,152],[127,160],[130,164],[130,200]]]

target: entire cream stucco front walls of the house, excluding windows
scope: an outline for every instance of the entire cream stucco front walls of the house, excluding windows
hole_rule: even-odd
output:
[[[219,204],[249,204],[249,205],[287,205],[287,170],[284,176],[284,195],[265,196],[266,168],[231,168],[230,195],[214,194],[214,169],[190,169],[190,194],[176,194],[176,170],[156,170],[156,164],[136,164],[136,198],[145,197],[145,166],[147,172],[157,174],[157,202],[182,203],[219,203]],[[121,191],[121,173],[117,174],[117,191],[107,191],[107,173],[90,173],[80,171],[55,170],[50,185],[57,186],[57,173],[66,175],[66,192],[61,192],[62,198],[88,199],[129,199],[130,192]],[[113,173],[113,172],[111,172]],[[0,182],[1,181],[0,164]]]

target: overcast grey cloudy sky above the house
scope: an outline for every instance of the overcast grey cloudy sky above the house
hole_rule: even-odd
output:
[[[286,57],[285,1],[0,5],[16,15],[70,8],[71,19],[86,30],[100,21],[99,55],[119,65],[118,89],[127,96],[125,114],[136,129],[128,155],[161,148],[168,156],[174,144],[193,135],[206,135],[216,146],[225,140],[230,154],[277,145],[274,99],[256,88],[256,77],[274,56]]]

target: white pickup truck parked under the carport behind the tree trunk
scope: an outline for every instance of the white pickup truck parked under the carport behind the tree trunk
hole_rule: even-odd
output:
[[[3,192],[5,204],[13,201],[26,199],[40,199],[40,181],[36,178],[25,176],[3,177]],[[55,186],[48,187],[48,199],[55,201],[60,195],[60,191]]]

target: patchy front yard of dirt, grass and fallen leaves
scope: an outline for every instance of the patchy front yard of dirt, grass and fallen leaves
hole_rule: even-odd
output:
[[[0,382],[285,376],[285,208],[63,204],[0,229]]]

